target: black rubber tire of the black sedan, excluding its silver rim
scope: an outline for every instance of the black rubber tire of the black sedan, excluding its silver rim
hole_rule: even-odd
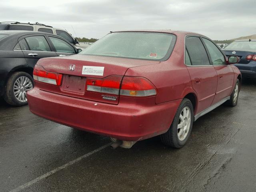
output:
[[[7,80],[5,90],[4,90],[4,100],[13,106],[24,106],[27,105],[28,102],[21,102],[19,101],[16,96],[14,95],[14,83],[16,80],[20,77],[27,77],[32,82],[32,86],[34,87],[34,81],[33,78],[30,76],[30,74],[26,72],[14,72]]]

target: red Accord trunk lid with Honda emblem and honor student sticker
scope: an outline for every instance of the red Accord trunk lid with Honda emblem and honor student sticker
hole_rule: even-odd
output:
[[[41,90],[56,94],[118,104],[119,95],[87,91],[86,79],[103,79],[108,76],[123,77],[128,68],[157,63],[159,61],[85,55],[44,58],[39,60],[37,64],[48,72],[63,74],[62,84],[61,86],[54,86],[40,83],[38,86]]]

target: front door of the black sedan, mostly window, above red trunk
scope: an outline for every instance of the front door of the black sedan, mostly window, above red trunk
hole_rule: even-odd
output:
[[[73,55],[77,53],[76,48],[74,48],[72,45],[70,45],[65,40],[58,38],[56,36],[47,36],[49,39],[49,42],[52,44],[52,47],[54,48],[54,51],[56,51],[58,56],[68,56]]]

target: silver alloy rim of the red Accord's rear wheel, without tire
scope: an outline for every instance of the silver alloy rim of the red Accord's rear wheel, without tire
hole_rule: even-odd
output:
[[[190,108],[184,107],[180,113],[180,118],[178,122],[178,138],[180,141],[184,140],[188,135],[191,123],[191,112]]]

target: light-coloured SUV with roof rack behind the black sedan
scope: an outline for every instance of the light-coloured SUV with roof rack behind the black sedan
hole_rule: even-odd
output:
[[[77,48],[87,48],[87,44],[79,44],[78,40],[63,29],[53,28],[52,26],[36,23],[20,23],[20,22],[0,22],[0,30],[25,30],[51,33],[66,39]]]

